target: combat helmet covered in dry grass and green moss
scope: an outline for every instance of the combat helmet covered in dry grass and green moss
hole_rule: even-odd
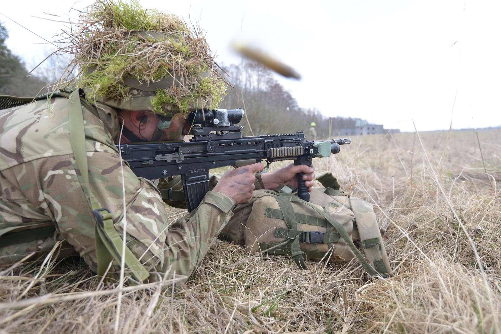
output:
[[[96,1],[67,35],[59,53],[74,58],[58,85],[84,87],[90,102],[171,116],[215,108],[226,89],[199,28],[136,0]]]

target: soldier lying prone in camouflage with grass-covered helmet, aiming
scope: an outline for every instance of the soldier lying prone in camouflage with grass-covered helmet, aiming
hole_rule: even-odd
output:
[[[112,261],[110,272],[116,272],[121,258],[117,236],[121,238],[127,224],[125,261],[131,279],[154,281],[168,268],[189,277],[231,218],[234,205],[246,201],[256,188],[294,185],[299,172],[311,187],[313,167],[289,166],[262,178],[255,175],[263,169],[262,163],[227,171],[196,209],[169,224],[158,189],[151,181],[136,177],[115,144],[182,140],[190,130],[186,111],[217,103],[224,89],[206,87],[225,84],[210,56],[190,72],[196,50],[205,47],[205,55],[210,53],[205,41],[193,36],[179,19],[148,10],[139,16],[145,22],[158,22],[152,30],[161,33],[137,31],[119,21],[110,27],[93,16],[108,9],[104,3],[97,2],[87,14],[96,23],[92,31],[113,30],[114,38],[121,36],[123,45],[133,45],[139,53],[155,48],[165,51],[165,44],[170,44],[188,71],[178,77],[165,62],[151,67],[144,62],[140,69],[129,66],[113,77],[116,83],[103,94],[98,91],[102,86],[98,75],[108,75],[115,59],[102,56],[90,61],[94,68],[87,67],[78,81],[83,82],[83,90],[35,99],[0,97],[0,264],[28,255],[28,260],[40,258],[58,243],[59,256],[79,254],[99,274]],[[177,30],[169,30],[173,24],[162,26],[164,21],[174,22]],[[86,45],[74,48],[77,61],[88,56],[86,47],[95,41],[87,38]],[[126,54],[128,49],[120,52]],[[79,65],[86,66],[84,62]],[[153,70],[156,76],[148,84],[141,73]],[[185,80],[191,80],[191,86]],[[197,96],[189,105],[179,100],[178,91],[185,86],[187,94]],[[127,93],[117,95],[119,89]],[[164,99],[159,102],[158,96]]]

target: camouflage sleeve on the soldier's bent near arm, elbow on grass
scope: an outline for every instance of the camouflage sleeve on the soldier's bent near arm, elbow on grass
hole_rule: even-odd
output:
[[[87,155],[91,191],[100,205],[113,214],[120,235],[126,221],[127,246],[150,271],[149,279],[158,279],[169,267],[176,275],[189,276],[231,217],[234,201],[221,192],[209,191],[196,210],[169,225],[166,207],[149,180],[136,177],[124,164],[123,192],[118,154],[88,152]],[[42,171],[46,175],[42,186],[50,198],[54,220],[61,235],[96,270],[95,219],[80,182],[80,171],[73,155],[50,160],[46,164],[48,169]],[[116,261],[113,270],[119,270]]]

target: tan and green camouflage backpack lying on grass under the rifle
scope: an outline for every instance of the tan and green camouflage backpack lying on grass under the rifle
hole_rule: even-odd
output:
[[[310,202],[289,186],[254,191],[247,203],[235,207],[219,238],[241,244],[251,254],[292,256],[302,269],[308,268],[305,259],[342,262],[357,257],[371,275],[391,275],[372,204],[341,191],[330,172],[317,179],[325,187],[314,188]]]

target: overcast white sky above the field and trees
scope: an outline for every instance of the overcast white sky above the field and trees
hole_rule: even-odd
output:
[[[92,1],[2,1],[0,12],[51,40],[66,17]],[[277,76],[302,107],[413,130],[501,125],[501,1],[159,1],[145,7],[199,21],[218,61],[238,63],[244,41],[299,71]],[[75,16],[75,14],[73,14]],[[49,47],[0,15],[9,47],[27,63]],[[453,102],[457,90],[454,109]],[[235,106],[237,107],[237,106]],[[252,110],[248,110],[252,112]]]

